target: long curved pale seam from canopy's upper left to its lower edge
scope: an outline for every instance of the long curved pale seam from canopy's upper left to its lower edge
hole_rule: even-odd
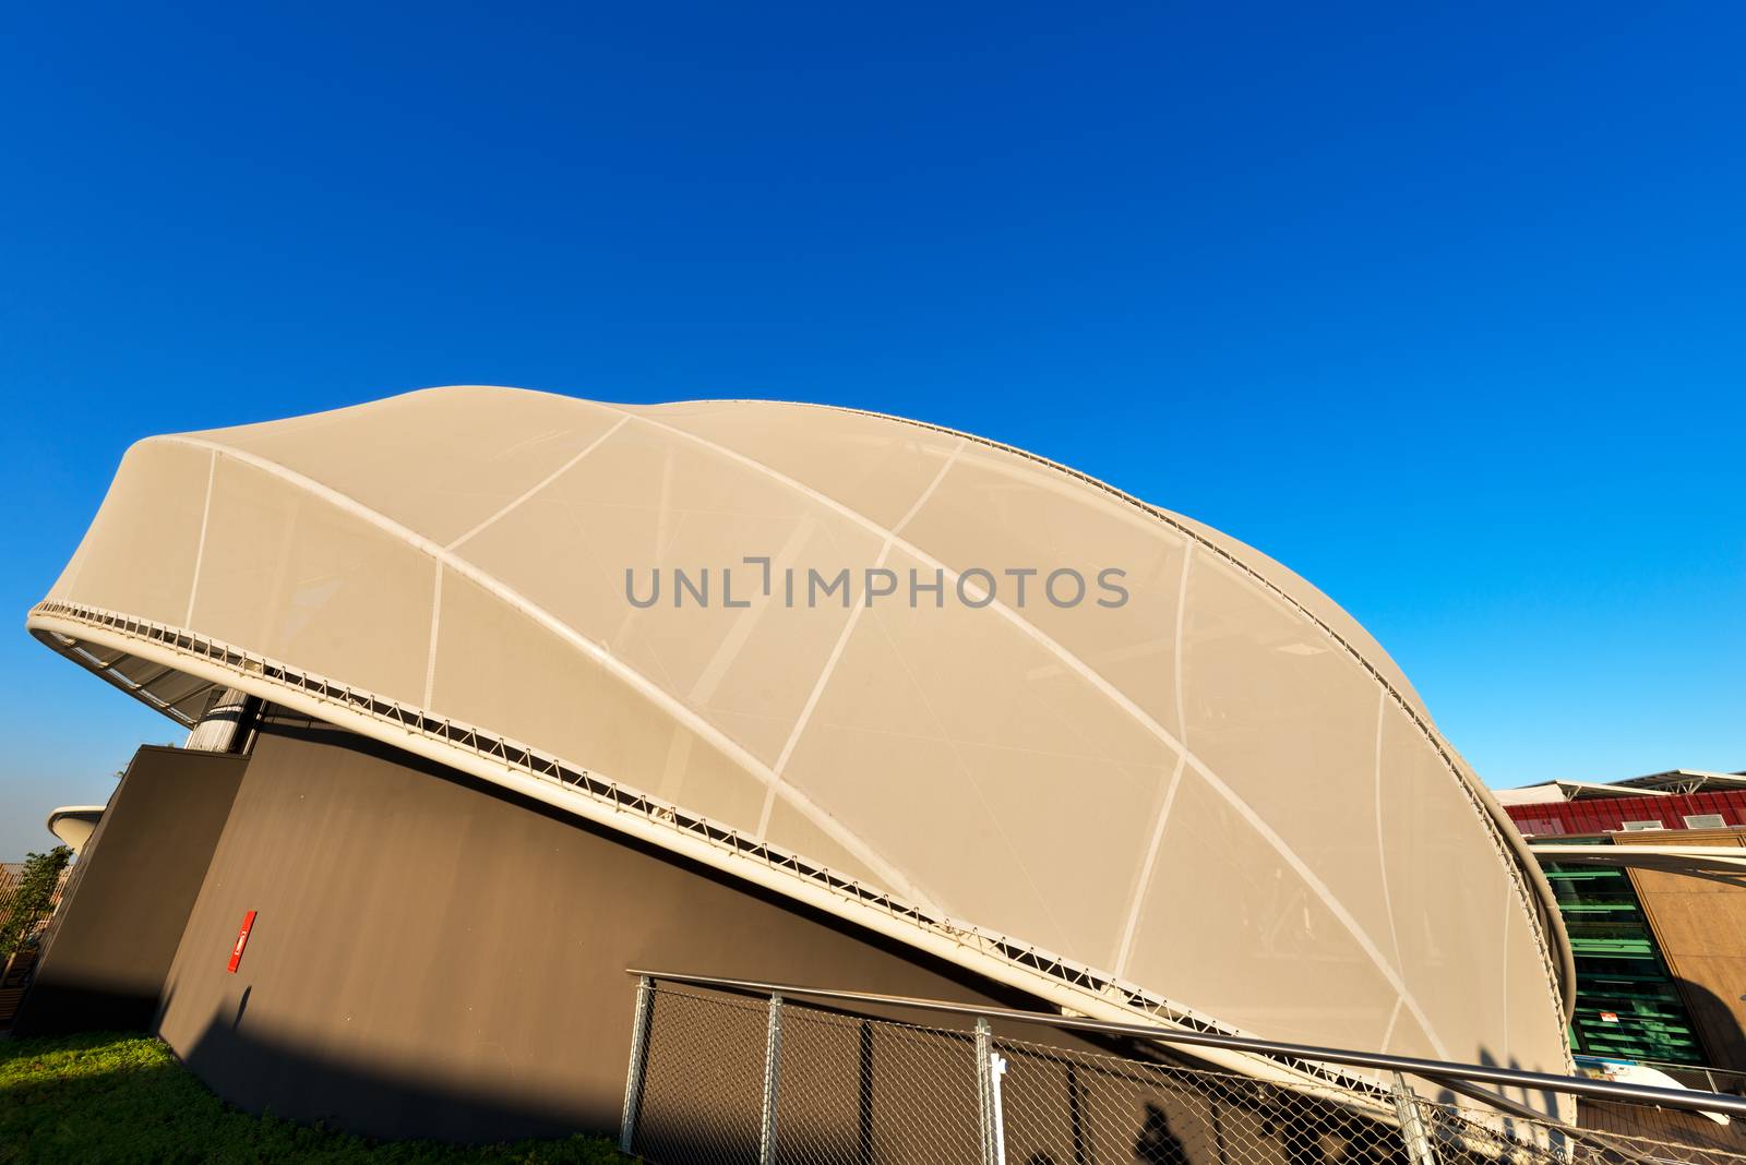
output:
[[[436,544],[435,541],[424,537],[417,530],[402,525],[400,521],[389,518],[382,511],[372,509],[370,506],[360,502],[356,497],[351,497],[349,494],[342,494],[340,490],[335,490],[330,485],[316,481],[314,478],[302,474],[292,469],[290,466],[281,466],[276,460],[260,457],[258,453],[251,453],[248,450],[232,448],[229,445],[220,445],[208,438],[187,436],[187,434],[161,436],[150,439],[173,445],[189,445],[192,448],[217,450],[225,457],[251,466],[313,497],[320,497],[321,501],[328,502],[340,513],[347,513],[358,518],[360,521],[367,521],[368,525],[374,525],[375,528],[410,546],[412,549],[430,555],[431,558],[436,558],[442,565],[466,577],[470,582],[475,582],[485,593],[492,595],[494,598],[512,607],[513,610],[527,616],[540,626],[557,635],[564,644],[580,651],[583,656],[602,666],[606,671],[616,675],[634,692],[637,692],[650,703],[656,705],[658,708],[672,715],[676,720],[684,724],[688,729],[697,732],[700,738],[707,739],[711,745],[721,750],[725,757],[739,764],[754,780],[761,780],[765,783],[775,781],[775,774],[770,773],[770,766],[766,766],[763,760],[747,752],[740,743],[737,743],[719,727],[700,717],[684,701],[674,698],[670,692],[667,692],[663,687],[650,680],[646,675],[643,675],[625,661],[618,659],[611,652],[604,651],[599,644],[595,644],[588,637],[581,635],[576,628],[569,626],[567,623],[553,616],[540,603],[533,602],[515,588],[503,582],[503,579],[496,577],[487,570],[482,570],[480,567],[475,567],[466,558],[456,555],[445,546]],[[794,802],[794,806],[826,837],[849,849],[849,853],[852,853],[876,877],[885,879],[889,889],[908,896],[910,900],[917,902],[922,907],[938,910],[932,898],[924,895],[917,886],[911,886],[910,881],[903,877],[896,867],[892,867],[883,856],[880,856],[880,853],[873,849],[873,846],[870,846],[866,841],[863,841],[854,830],[847,828],[842,821],[819,809],[815,804],[812,804],[812,799],[808,799],[793,785],[782,785],[780,788],[782,795],[787,797],[791,802]]]

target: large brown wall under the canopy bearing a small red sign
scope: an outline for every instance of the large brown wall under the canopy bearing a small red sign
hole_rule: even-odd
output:
[[[627,966],[1025,1006],[548,806],[269,717],[159,1029],[246,1109],[463,1141],[613,1130]]]

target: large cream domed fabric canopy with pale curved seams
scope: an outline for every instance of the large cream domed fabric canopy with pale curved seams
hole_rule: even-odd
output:
[[[843,569],[847,607],[787,605],[787,570],[803,596]],[[870,569],[897,579],[871,605]],[[1042,593],[1058,569],[1083,602]],[[1388,656],[1254,549],[1018,450],[431,389],[141,441],[49,598],[489,729],[1264,1038],[1570,1066],[1545,884]]]

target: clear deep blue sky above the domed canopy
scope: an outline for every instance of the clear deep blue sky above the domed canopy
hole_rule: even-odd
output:
[[[14,5],[23,631],[127,443],[454,382],[971,429],[1259,546],[1493,785],[1746,767],[1746,10]]]

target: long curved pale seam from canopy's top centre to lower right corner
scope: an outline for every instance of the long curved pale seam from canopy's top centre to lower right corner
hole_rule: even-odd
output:
[[[620,406],[609,406],[609,408],[620,408]],[[623,412],[623,410],[620,410],[620,412]],[[948,567],[941,560],[934,558],[932,555],[929,555],[927,551],[924,551],[920,546],[915,546],[913,542],[904,541],[894,530],[887,530],[887,528],[880,527],[873,518],[868,518],[861,511],[847,506],[845,502],[840,502],[838,499],[835,499],[835,497],[831,497],[831,495],[828,495],[828,494],[824,494],[821,490],[812,488],[810,485],[807,485],[803,481],[796,481],[794,478],[791,478],[786,473],[775,469],[773,466],[766,466],[766,464],[763,464],[761,460],[758,460],[754,457],[747,457],[746,453],[740,453],[737,450],[732,450],[732,448],[726,448],[723,445],[718,445],[716,441],[711,441],[709,438],[698,436],[695,433],[688,433],[688,431],[679,429],[676,426],[670,426],[670,424],[667,424],[663,420],[655,420],[653,417],[648,417],[644,413],[629,413],[629,415],[636,417],[637,420],[641,420],[643,424],[646,424],[646,426],[650,426],[653,429],[662,429],[662,431],[670,433],[670,434],[674,434],[677,438],[693,441],[693,443],[697,443],[697,445],[700,445],[704,448],[714,450],[718,455],[721,455],[721,457],[725,457],[728,460],[739,462],[739,464],[753,469],[754,473],[761,473],[766,478],[770,478],[772,481],[786,485],[787,488],[794,490],[796,494],[801,494],[803,497],[814,499],[821,506],[826,506],[828,509],[833,509],[835,513],[838,513],[843,518],[847,518],[847,520],[861,525],[863,528],[871,530],[873,534],[878,534],[882,537],[890,537],[894,542],[901,544],[904,551],[908,551],[910,555],[917,556],[924,563],[927,563],[931,567],[939,567],[941,570],[945,570],[953,579],[953,582],[959,579],[959,572],[957,570],[953,570],[952,567]],[[941,431],[941,433],[945,433],[945,431]],[[952,436],[957,436],[960,439],[967,439],[967,438],[964,438],[964,434],[952,434]],[[1411,1008],[1413,1017],[1418,1020],[1419,1027],[1425,1029],[1425,1036],[1430,1039],[1432,1046],[1437,1050],[1437,1055],[1440,1055],[1442,1059],[1449,1059],[1447,1052],[1446,1052],[1446,1048],[1442,1045],[1442,1039],[1439,1038],[1435,1027],[1430,1022],[1430,1017],[1419,1006],[1418,999],[1413,998],[1413,992],[1407,989],[1406,980],[1400,978],[1399,968],[1395,968],[1383,956],[1381,949],[1376,945],[1376,940],[1371,938],[1371,935],[1364,930],[1364,924],[1358,923],[1358,919],[1334,895],[1334,891],[1327,886],[1327,882],[1323,882],[1315,874],[1315,870],[1310,869],[1310,863],[1304,862],[1303,856],[1296,849],[1292,849],[1292,846],[1287,844],[1285,839],[1280,837],[1280,834],[1271,825],[1268,825],[1268,821],[1255,811],[1254,806],[1248,804],[1248,801],[1245,801],[1234,788],[1231,788],[1231,785],[1227,785],[1224,781],[1224,778],[1220,778],[1217,773],[1213,773],[1212,767],[1205,760],[1201,760],[1193,752],[1189,752],[1189,748],[1182,741],[1179,741],[1163,724],[1159,724],[1152,715],[1149,715],[1144,708],[1140,708],[1137,703],[1133,703],[1133,699],[1130,699],[1121,689],[1117,689],[1102,673],[1098,673],[1096,668],[1093,668],[1083,657],[1079,657],[1077,654],[1074,654],[1072,651],[1069,651],[1063,644],[1060,644],[1058,640],[1055,640],[1053,637],[1049,637],[1042,628],[1039,628],[1037,624],[1030,623],[1028,619],[1025,619],[1016,610],[1013,610],[1011,607],[1007,607],[1006,603],[1002,603],[999,600],[988,603],[986,607],[983,607],[983,610],[990,610],[990,612],[997,614],[999,617],[1007,619],[1009,623],[1013,623],[1014,628],[1018,628],[1021,633],[1025,633],[1027,637],[1030,637],[1039,647],[1042,647],[1044,651],[1051,652],[1067,668],[1070,668],[1072,671],[1076,671],[1083,680],[1086,680],[1091,687],[1095,687],[1098,692],[1102,692],[1110,703],[1114,703],[1117,708],[1121,708],[1130,717],[1133,717],[1133,720],[1138,722],[1142,727],[1149,729],[1159,741],[1163,741],[1165,745],[1168,745],[1177,753],[1184,755],[1187,759],[1187,762],[1189,762],[1189,767],[1194,769],[1196,776],[1200,776],[1203,781],[1206,781],[1206,785],[1226,804],[1229,804],[1236,811],[1236,814],[1240,818],[1243,818],[1243,821],[1275,853],[1278,853],[1280,858],[1285,860],[1285,863],[1289,867],[1292,867],[1292,872],[1297,874],[1297,877],[1304,882],[1304,886],[1316,898],[1322,900],[1322,905],[1327,907],[1329,914],[1332,914],[1339,921],[1339,924],[1351,935],[1353,942],[1358,944],[1358,949],[1364,952],[1364,956],[1376,966],[1376,970],[1381,973],[1381,977],[1385,980],[1388,980],[1388,985],[1395,992],[1399,992],[1402,998],[1406,998],[1407,1008]],[[1315,626],[1318,630],[1322,630],[1323,633],[1332,635],[1322,623],[1315,623]],[[787,787],[784,785],[784,788],[787,788]]]

